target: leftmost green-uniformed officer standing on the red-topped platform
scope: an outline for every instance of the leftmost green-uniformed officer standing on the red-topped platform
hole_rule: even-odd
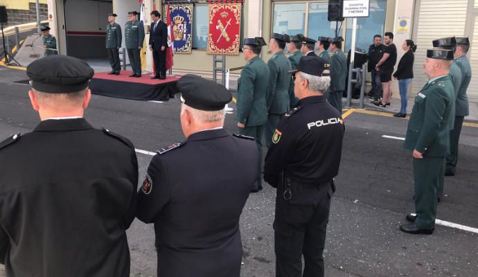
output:
[[[108,74],[119,75],[121,71],[121,64],[119,60],[119,48],[121,48],[121,26],[116,24],[116,13],[108,15],[109,24],[106,26],[106,51],[108,52],[109,64],[112,66],[112,71]]]

